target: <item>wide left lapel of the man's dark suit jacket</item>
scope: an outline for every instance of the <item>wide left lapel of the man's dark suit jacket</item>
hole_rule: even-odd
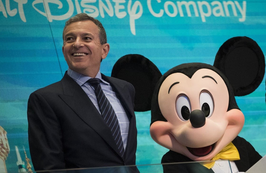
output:
[[[59,97],[119,154],[110,128],[84,90],[66,73],[61,83],[64,94]]]

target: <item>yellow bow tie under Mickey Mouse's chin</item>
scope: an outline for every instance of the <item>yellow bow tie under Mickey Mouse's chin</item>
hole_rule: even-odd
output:
[[[224,160],[240,160],[240,156],[238,153],[238,150],[234,146],[234,144],[231,142],[228,144],[220,153],[218,153],[216,156],[214,156],[210,161],[215,161],[218,159],[224,159]],[[210,169],[214,166],[215,162],[202,162],[201,163],[206,168]]]

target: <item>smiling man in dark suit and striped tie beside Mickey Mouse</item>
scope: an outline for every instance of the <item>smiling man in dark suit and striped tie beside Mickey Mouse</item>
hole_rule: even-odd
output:
[[[66,22],[63,41],[69,67],[63,79],[36,90],[28,100],[35,171],[135,165],[135,89],[100,72],[110,49],[105,29],[97,19],[80,13]],[[136,167],[128,169],[138,172]]]

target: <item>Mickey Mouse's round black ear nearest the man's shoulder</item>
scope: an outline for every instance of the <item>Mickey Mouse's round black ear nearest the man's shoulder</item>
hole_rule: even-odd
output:
[[[111,76],[134,86],[136,91],[134,111],[151,110],[153,90],[162,76],[155,64],[139,54],[124,55],[114,64]]]

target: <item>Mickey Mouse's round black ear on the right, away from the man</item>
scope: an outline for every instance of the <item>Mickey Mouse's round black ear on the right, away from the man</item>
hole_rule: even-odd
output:
[[[261,84],[265,73],[265,57],[254,40],[238,36],[222,44],[213,66],[230,81],[235,96],[244,96]]]

